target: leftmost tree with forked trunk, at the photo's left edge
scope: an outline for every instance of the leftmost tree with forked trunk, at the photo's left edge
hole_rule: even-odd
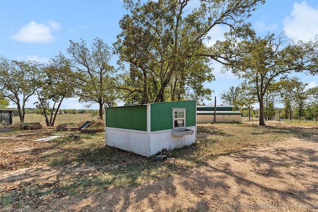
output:
[[[9,61],[0,57],[0,89],[5,98],[17,106],[20,122],[24,122],[25,103],[41,87],[41,64],[34,61]]]

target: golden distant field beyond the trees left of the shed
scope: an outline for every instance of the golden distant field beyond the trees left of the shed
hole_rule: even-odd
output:
[[[97,120],[97,116],[93,116],[90,113],[77,113],[77,114],[58,114],[55,119],[54,125],[60,124],[78,124],[83,121]],[[13,124],[20,123],[18,116],[12,117]],[[39,114],[25,114],[25,123],[40,122],[42,125],[46,125],[45,117]]]

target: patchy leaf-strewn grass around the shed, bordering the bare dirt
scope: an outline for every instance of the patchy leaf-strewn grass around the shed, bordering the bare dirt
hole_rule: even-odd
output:
[[[52,132],[51,132],[52,133]],[[181,149],[162,152],[173,160],[155,162],[131,152],[105,146],[104,133],[80,134],[80,139],[61,137],[53,141],[34,141],[49,135],[46,131],[18,131],[2,134],[22,140],[0,140],[1,171],[48,166],[56,170],[56,179],[9,182],[0,186],[0,209],[15,209],[39,201],[68,195],[101,192],[111,186],[136,186],[157,180],[220,155],[288,137],[316,135],[317,129],[255,126],[245,124],[199,124],[197,143]],[[23,146],[25,150],[16,151]],[[284,165],[289,168],[289,164]]]

